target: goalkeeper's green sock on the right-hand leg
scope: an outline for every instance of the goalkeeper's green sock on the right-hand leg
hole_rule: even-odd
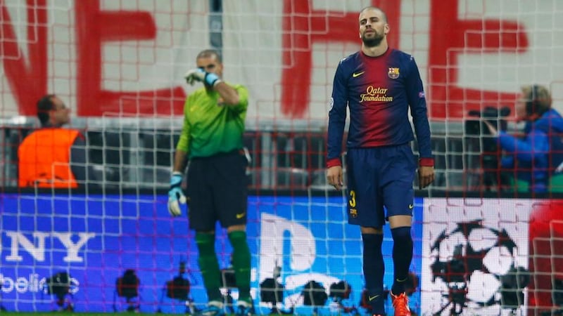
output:
[[[239,300],[251,303],[251,250],[246,242],[246,232],[229,232],[229,240],[233,246],[232,261]]]

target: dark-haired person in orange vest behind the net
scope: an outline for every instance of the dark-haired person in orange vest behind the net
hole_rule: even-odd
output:
[[[65,129],[70,109],[49,94],[37,101],[42,128],[30,133],[18,148],[18,187],[77,188],[87,180],[85,138]],[[91,174],[89,175],[91,176]]]

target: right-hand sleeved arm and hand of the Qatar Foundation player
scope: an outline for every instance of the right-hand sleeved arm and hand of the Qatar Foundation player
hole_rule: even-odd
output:
[[[412,124],[415,126],[419,152],[419,188],[427,187],[434,182],[434,157],[430,138],[430,124],[428,122],[428,110],[426,107],[426,96],[424,86],[420,79],[415,58],[409,60],[409,73],[407,75],[407,98],[412,115]]]

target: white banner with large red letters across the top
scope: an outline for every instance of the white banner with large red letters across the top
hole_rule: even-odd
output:
[[[182,75],[220,29],[224,77],[250,88],[249,119],[324,121],[367,5],[386,11],[391,46],[415,56],[433,119],[512,107],[523,84],[562,90],[552,0],[361,2],[223,1],[222,25],[210,26],[208,1],[0,1],[0,115],[34,116],[46,93],[80,117],[181,115],[192,89]]]

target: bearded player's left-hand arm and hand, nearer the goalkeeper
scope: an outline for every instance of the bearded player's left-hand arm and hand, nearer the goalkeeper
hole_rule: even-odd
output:
[[[346,77],[343,74],[343,60],[341,60],[336,67],[332,83],[327,132],[327,181],[337,190],[340,190],[343,185],[341,154],[347,105],[348,89],[346,88]]]

